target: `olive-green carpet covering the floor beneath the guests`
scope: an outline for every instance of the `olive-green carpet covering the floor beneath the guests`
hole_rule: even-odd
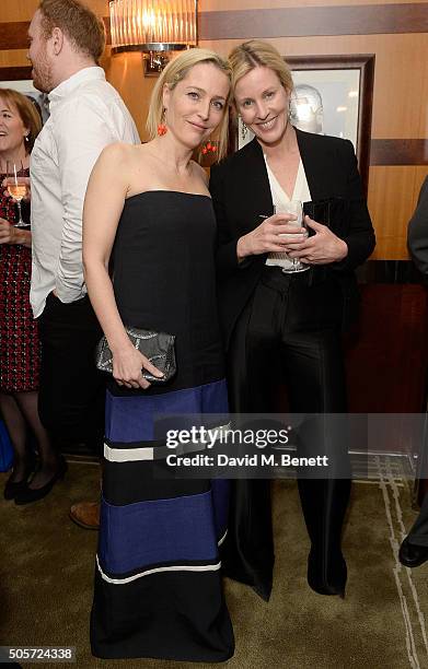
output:
[[[0,474],[1,489],[5,478]],[[79,669],[207,667],[91,656],[97,532],[74,526],[68,510],[76,501],[95,498],[97,491],[97,467],[71,463],[63,483],[45,500],[25,507],[1,500],[0,645],[76,646]],[[428,563],[410,572],[396,562],[402,532],[415,517],[408,488],[392,479],[355,483],[344,538],[345,600],[316,595],[306,585],[309,542],[296,483],[277,481],[274,502],[276,570],[269,603],[225,582],[236,639],[228,669],[427,668]]]

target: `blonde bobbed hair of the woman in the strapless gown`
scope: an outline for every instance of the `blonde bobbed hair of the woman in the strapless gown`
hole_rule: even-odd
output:
[[[166,84],[171,91],[175,89],[178,82],[183,81],[187,73],[197,64],[211,63],[219,70],[224,72],[229,81],[232,79],[231,68],[228,61],[209,49],[188,49],[184,51],[177,58],[171,60],[162,74],[157,81],[150,98],[150,107],[147,116],[147,129],[149,131],[150,139],[154,139],[158,134],[158,126],[162,121],[163,116],[163,87]],[[216,136],[218,138],[218,151],[217,160],[222,159],[228,151],[229,140],[229,102],[230,92],[224,105],[223,118],[217,129]]]

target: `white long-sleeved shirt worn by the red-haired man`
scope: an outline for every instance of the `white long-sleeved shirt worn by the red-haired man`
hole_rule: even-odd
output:
[[[82,266],[82,213],[86,186],[102,150],[140,142],[136,125],[104,70],[90,67],[49,93],[50,116],[31,156],[34,317],[55,289],[76,302],[86,287]]]

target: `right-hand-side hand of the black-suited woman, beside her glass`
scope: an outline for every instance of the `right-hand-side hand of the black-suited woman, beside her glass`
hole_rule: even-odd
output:
[[[302,242],[289,239],[285,249],[290,258],[298,258],[305,265],[327,265],[339,262],[348,255],[348,245],[337,237],[326,225],[304,218],[308,227],[315,234]]]

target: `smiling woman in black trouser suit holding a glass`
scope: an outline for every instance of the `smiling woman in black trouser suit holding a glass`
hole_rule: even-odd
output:
[[[230,62],[236,111],[255,133],[212,168],[210,179],[231,408],[271,412],[279,372],[293,413],[345,413],[340,329],[358,297],[354,270],[374,248],[354,149],[347,140],[293,128],[290,70],[273,46],[244,43]],[[292,225],[296,216],[273,215],[274,206],[289,199],[312,201],[310,211],[323,212],[323,222],[305,216],[309,236]],[[293,271],[292,258],[308,271]],[[299,479],[311,539],[308,582],[320,594],[343,596],[346,444],[329,434],[320,437],[320,453],[342,468],[337,478]],[[232,513],[227,572],[267,599],[274,563],[268,481],[236,481]]]

